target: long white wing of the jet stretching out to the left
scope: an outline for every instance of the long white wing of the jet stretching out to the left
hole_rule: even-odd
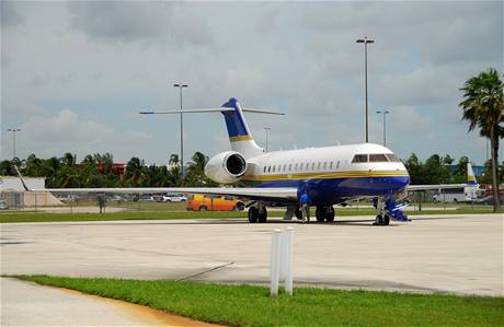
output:
[[[198,194],[216,196],[233,196],[249,200],[297,201],[297,188],[230,188],[230,187],[117,187],[117,188],[45,188],[39,191],[68,194]]]

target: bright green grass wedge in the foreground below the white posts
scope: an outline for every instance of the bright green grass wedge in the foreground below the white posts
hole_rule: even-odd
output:
[[[503,326],[504,297],[20,276],[23,280],[147,305],[230,326]]]

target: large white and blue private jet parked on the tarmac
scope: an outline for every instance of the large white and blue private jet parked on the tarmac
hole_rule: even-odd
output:
[[[390,220],[408,221],[402,213],[410,190],[459,188],[467,184],[409,185],[403,163],[386,147],[373,143],[310,148],[265,152],[247,126],[243,112],[282,115],[275,112],[242,108],[230,98],[219,108],[141,112],[140,114],[214,113],[224,115],[231,151],[211,157],[205,174],[219,184],[243,180],[254,187],[153,187],[153,188],[58,188],[58,192],[183,192],[227,195],[253,201],[249,221],[265,222],[266,207],[286,207],[285,220],[300,218],[299,197],[307,192],[316,206],[317,221],[333,221],[333,205],[347,205],[357,199],[373,201],[377,210],[375,224],[388,225]],[[469,173],[469,170],[468,170]],[[476,185],[472,168],[469,179]],[[476,186],[477,187],[477,186]]]

